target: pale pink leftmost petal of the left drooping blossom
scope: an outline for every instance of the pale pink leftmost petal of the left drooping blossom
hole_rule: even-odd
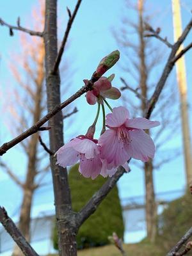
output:
[[[79,160],[79,154],[71,147],[71,141],[61,147],[57,152],[57,163],[64,168],[73,165]]]

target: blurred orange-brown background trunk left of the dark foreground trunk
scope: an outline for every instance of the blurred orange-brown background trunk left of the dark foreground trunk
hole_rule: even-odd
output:
[[[44,45],[39,45],[37,60],[37,74],[36,74],[36,93],[34,96],[34,113],[33,124],[35,124],[41,116],[42,108],[42,88],[44,83]],[[28,170],[26,174],[26,181],[23,185],[23,199],[20,207],[19,229],[27,241],[30,240],[30,221],[31,221],[31,204],[33,200],[33,194],[35,191],[35,176],[36,176],[36,163],[37,163],[37,145],[38,145],[38,133],[33,134],[28,144]],[[19,247],[16,245],[13,249],[13,256],[22,255]]]

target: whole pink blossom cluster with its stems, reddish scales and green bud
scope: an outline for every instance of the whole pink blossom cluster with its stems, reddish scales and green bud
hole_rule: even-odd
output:
[[[111,58],[110,54],[109,57]],[[100,62],[99,67],[93,73],[93,76],[100,76],[100,78],[93,84],[92,90],[86,93],[88,104],[98,104],[95,121],[85,135],[77,136],[56,152],[57,164],[65,168],[79,161],[79,172],[86,178],[95,179],[98,175],[111,177],[120,165],[128,172],[127,162],[131,157],[143,162],[154,157],[154,142],[143,130],[156,127],[159,122],[141,117],[130,118],[126,108],[120,106],[111,109],[106,101],[106,98],[118,99],[120,97],[119,90],[111,86],[114,75],[108,78],[101,77],[104,70],[111,67],[112,63],[114,65],[117,57],[118,54],[115,51],[115,57],[109,58],[110,61],[104,58]],[[88,80],[84,80],[84,83],[88,83]],[[104,103],[112,112],[106,116]],[[99,140],[95,140],[95,125],[100,106],[103,111],[103,127]]]

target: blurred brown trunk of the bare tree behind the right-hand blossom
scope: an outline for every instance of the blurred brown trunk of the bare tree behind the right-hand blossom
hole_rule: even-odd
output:
[[[140,88],[141,96],[147,99],[147,67],[145,64],[145,40],[143,36],[143,0],[138,1],[139,10],[139,36],[140,36]],[[143,116],[147,108],[146,101],[141,99],[141,111]],[[149,131],[147,131],[149,134]],[[147,237],[151,242],[154,242],[156,236],[156,201],[154,194],[154,181],[153,181],[153,164],[152,159],[144,164],[145,171],[145,214],[147,222]]]

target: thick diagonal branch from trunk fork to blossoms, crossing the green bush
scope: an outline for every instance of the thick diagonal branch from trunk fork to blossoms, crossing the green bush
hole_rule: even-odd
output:
[[[100,205],[102,200],[108,195],[108,193],[113,189],[116,182],[122,175],[125,170],[122,166],[118,167],[118,171],[113,175],[113,177],[109,178],[104,185],[92,196],[92,198],[88,201],[86,205],[84,205],[83,209],[77,213],[76,225],[77,228],[81,226],[81,224],[91,215],[93,212],[97,210],[97,207]]]

